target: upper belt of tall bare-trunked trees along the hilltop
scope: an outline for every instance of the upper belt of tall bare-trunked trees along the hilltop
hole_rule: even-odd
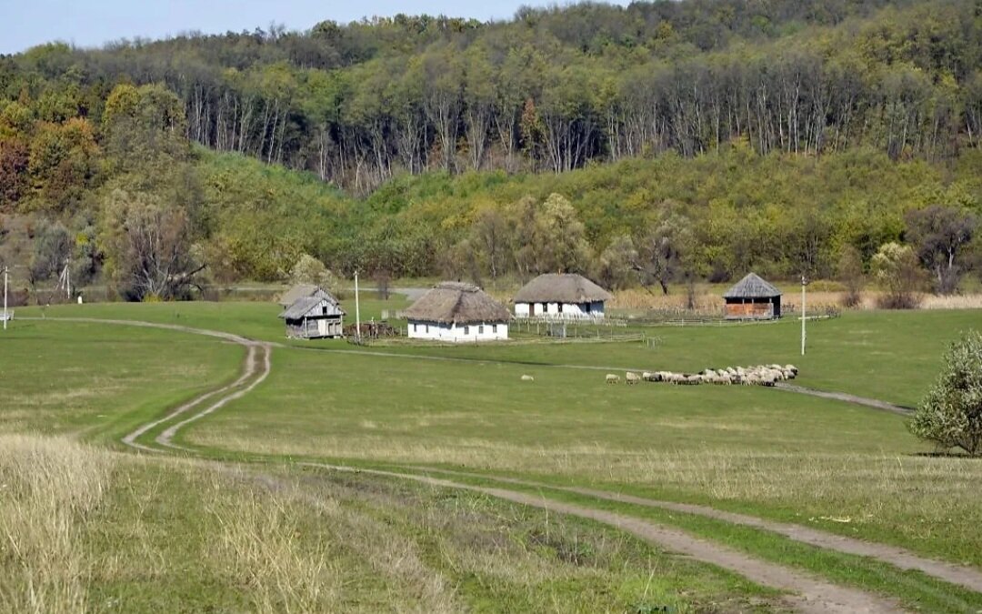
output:
[[[980,66],[971,0],[685,0],[51,44],[5,59],[0,90],[59,121],[97,119],[114,84],[164,84],[189,139],[367,194],[403,172],[559,173],[736,139],[950,159],[980,143]]]

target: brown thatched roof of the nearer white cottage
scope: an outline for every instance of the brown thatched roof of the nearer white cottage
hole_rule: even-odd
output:
[[[512,313],[477,286],[445,281],[406,309],[406,317],[440,324],[480,324],[507,322]]]

